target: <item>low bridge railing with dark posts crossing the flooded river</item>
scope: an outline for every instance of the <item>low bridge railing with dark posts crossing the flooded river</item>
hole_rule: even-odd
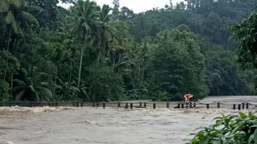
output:
[[[184,102],[0,102],[0,107],[110,107],[110,108],[227,108],[227,109],[257,109],[257,104],[222,104],[222,103],[184,103]]]

